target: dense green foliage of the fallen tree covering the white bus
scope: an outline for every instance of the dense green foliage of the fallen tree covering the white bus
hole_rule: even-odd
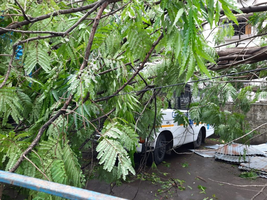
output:
[[[154,137],[162,124],[162,107],[167,108],[174,90],[180,93],[184,86],[132,92],[224,73],[207,69],[207,63],[216,64],[217,57],[202,35],[202,24],[207,21],[211,27],[218,26],[220,4],[229,20],[237,22],[230,9],[240,12],[231,0],[118,1],[104,9],[96,24],[98,21],[91,19],[96,18],[99,8],[85,9],[93,1],[19,2],[34,23],[21,16],[15,2],[0,5],[1,27],[10,28],[22,21],[25,24],[0,35],[0,85],[6,81],[0,89],[0,167],[10,170],[44,126],[38,145],[26,156],[46,177],[26,159],[16,172],[76,187],[83,187],[86,178],[97,171],[84,167],[89,161],[82,159],[81,152],[91,155],[91,166],[105,181],[135,174],[132,158],[137,138]],[[65,12],[67,8],[71,11]],[[82,20],[85,13],[91,14]],[[254,16],[252,21],[261,26],[263,18]],[[61,37],[68,29],[72,31]],[[221,31],[225,35],[232,29]],[[12,46],[19,41],[21,45],[15,47],[10,62]],[[81,63],[86,63],[83,69]],[[242,65],[230,70],[256,67]],[[198,83],[194,84],[194,95],[198,88]],[[244,114],[222,111],[219,103],[225,105],[229,98],[235,99],[233,109],[240,106],[246,113],[265,93],[259,90],[247,98],[255,88],[232,83],[216,87],[208,82],[206,88],[201,101],[191,105],[191,118],[214,125],[225,140],[246,133]],[[62,110],[69,97],[70,103]],[[46,126],[58,116],[56,113],[60,116]],[[189,124],[179,112],[176,121]],[[95,150],[97,160],[93,157]],[[55,199],[36,191],[27,191],[27,195],[29,199]]]

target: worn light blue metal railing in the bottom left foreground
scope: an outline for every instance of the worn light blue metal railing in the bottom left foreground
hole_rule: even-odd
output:
[[[125,200],[107,194],[0,170],[0,182],[73,200]]]

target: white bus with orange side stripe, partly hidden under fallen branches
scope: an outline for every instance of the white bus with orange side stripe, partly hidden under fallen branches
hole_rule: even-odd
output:
[[[138,153],[152,151],[153,161],[158,165],[163,161],[165,153],[170,152],[172,148],[190,142],[195,148],[198,148],[206,137],[214,133],[213,127],[209,124],[203,122],[196,124],[190,119],[187,112],[190,99],[191,102],[198,100],[198,98],[192,98],[190,85],[186,85],[184,92],[179,95],[174,92],[173,98],[169,101],[168,109],[161,110],[164,114],[162,125],[156,133],[154,141],[149,141],[147,150],[145,150],[146,141],[140,139],[139,146],[136,147]],[[183,124],[174,123],[175,110],[187,115],[190,122],[189,126],[184,127]]]

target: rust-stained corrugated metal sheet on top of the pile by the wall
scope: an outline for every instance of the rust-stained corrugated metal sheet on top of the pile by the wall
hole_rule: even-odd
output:
[[[252,146],[241,145],[241,144],[231,144],[222,147],[221,149],[217,149],[216,152],[220,154],[226,155],[243,155],[244,149],[246,150],[246,155],[260,155],[267,157],[267,154],[264,152],[253,148]]]

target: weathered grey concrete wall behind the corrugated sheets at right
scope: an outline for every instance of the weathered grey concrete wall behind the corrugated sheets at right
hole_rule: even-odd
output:
[[[229,104],[225,105],[226,107]],[[231,111],[231,107],[228,107],[227,110]],[[246,114],[246,120],[250,123],[251,129],[255,129],[258,126],[267,122],[267,102],[261,102],[257,104],[251,105],[250,111]],[[267,142],[267,125],[264,125],[257,129],[257,131],[261,134],[257,137],[253,138],[250,141],[252,145],[259,145]],[[256,136],[256,135],[255,135]]]

